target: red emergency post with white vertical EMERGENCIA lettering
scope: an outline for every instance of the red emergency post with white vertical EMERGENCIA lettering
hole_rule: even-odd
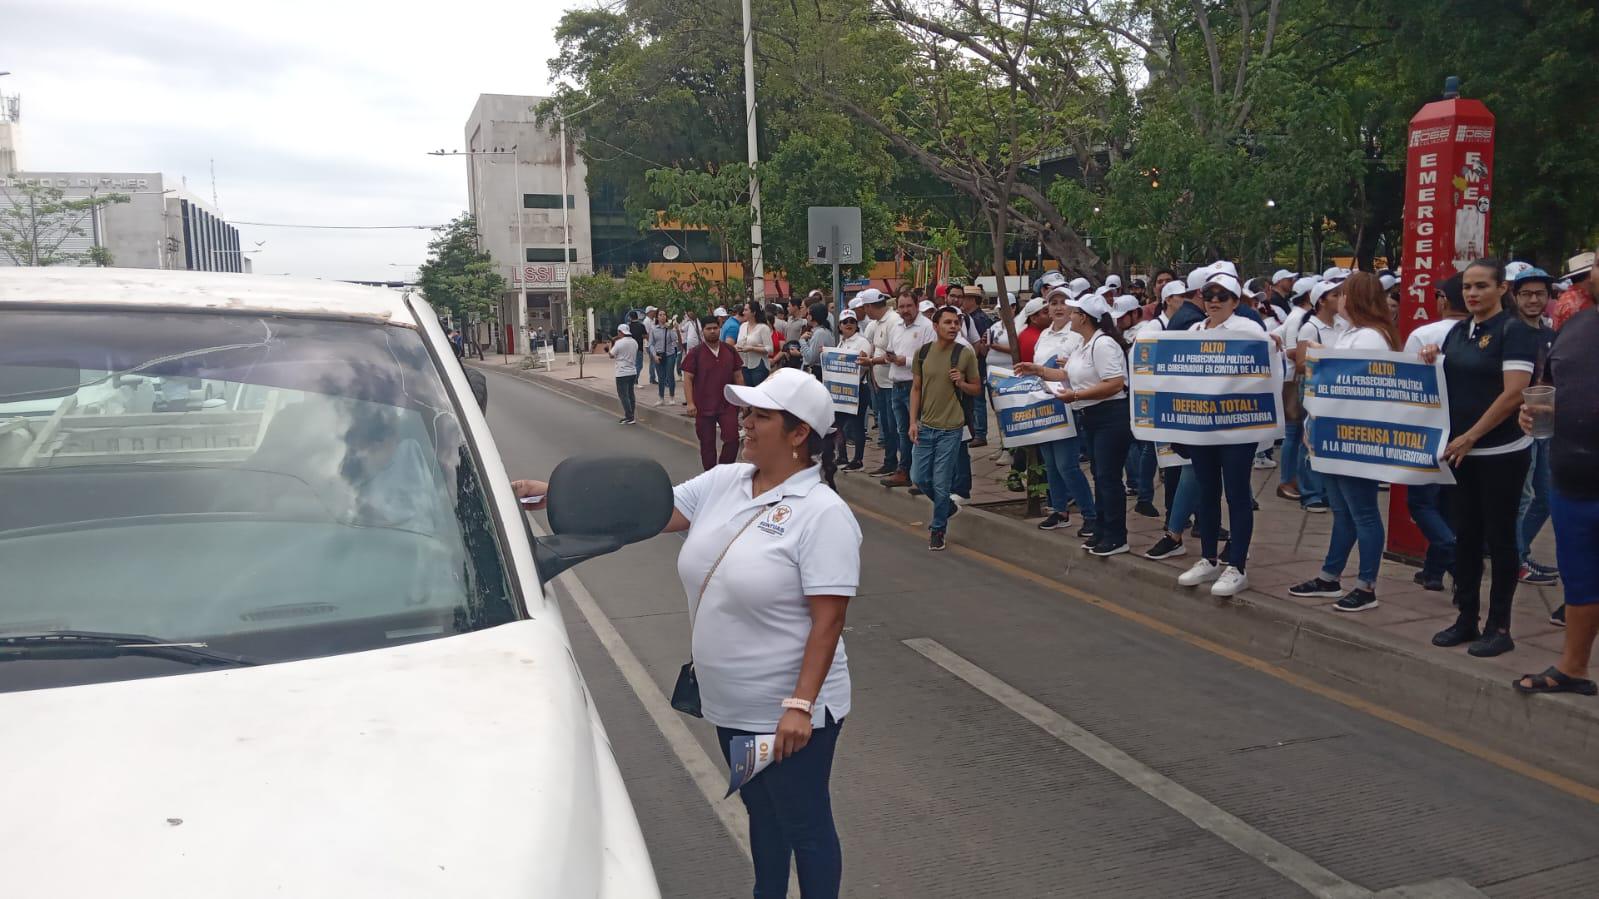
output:
[[[1461,99],[1450,78],[1444,99],[1410,118],[1406,154],[1399,336],[1438,320],[1434,288],[1487,254],[1493,210],[1493,114]],[[1406,509],[1404,486],[1388,494],[1388,552],[1420,558],[1426,539]]]

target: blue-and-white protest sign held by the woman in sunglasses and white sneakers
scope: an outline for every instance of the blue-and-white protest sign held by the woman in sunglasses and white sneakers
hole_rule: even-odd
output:
[[[1282,435],[1282,370],[1263,333],[1156,331],[1132,344],[1132,435],[1218,446]]]

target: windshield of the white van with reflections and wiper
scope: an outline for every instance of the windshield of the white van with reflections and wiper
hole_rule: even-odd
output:
[[[516,617],[461,422],[414,330],[8,310],[0,691],[427,640]],[[130,641],[131,643],[131,641]],[[110,651],[107,651],[110,646]]]

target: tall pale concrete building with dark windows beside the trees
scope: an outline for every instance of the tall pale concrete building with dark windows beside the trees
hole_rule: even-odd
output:
[[[544,99],[478,94],[465,128],[469,206],[483,250],[512,286],[499,320],[507,336],[524,323],[513,339],[521,352],[528,333],[566,330],[568,278],[593,267],[588,170],[568,136],[563,190],[560,139],[534,122]],[[571,227],[564,248],[563,224]],[[526,304],[520,304],[523,290]]]

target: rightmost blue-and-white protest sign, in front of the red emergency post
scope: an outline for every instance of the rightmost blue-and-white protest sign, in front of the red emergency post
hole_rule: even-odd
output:
[[[1310,464],[1383,483],[1455,483],[1444,362],[1402,352],[1311,347],[1305,363]]]

